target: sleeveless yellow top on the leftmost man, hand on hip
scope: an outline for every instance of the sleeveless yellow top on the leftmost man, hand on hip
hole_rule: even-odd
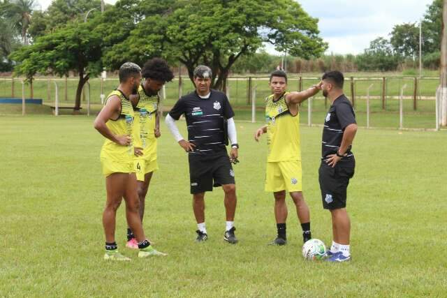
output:
[[[121,100],[121,112],[117,119],[110,119],[105,125],[110,129],[114,135],[130,135],[133,134],[133,107],[129,99],[124,94],[115,90],[112,91],[105,100],[104,105],[111,96],[118,96]],[[101,158],[119,163],[133,164],[133,140],[129,146],[122,146],[105,139],[103,147],[101,148]]]

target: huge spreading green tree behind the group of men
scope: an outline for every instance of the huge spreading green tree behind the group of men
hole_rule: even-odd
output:
[[[108,64],[163,56],[193,69],[207,64],[212,85],[225,89],[235,61],[271,43],[297,57],[318,57],[327,45],[318,36],[318,20],[293,0],[154,0],[140,2],[145,15],[124,43],[107,51]],[[159,11],[148,11],[150,6]],[[119,61],[121,60],[121,61]],[[119,61],[119,63],[117,63]]]

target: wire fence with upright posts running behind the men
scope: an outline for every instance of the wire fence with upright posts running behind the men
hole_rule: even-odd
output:
[[[317,77],[289,77],[288,90],[304,90],[318,83]],[[0,78],[0,97],[42,98],[44,105],[73,107],[78,80],[75,78],[37,78],[32,87],[21,78]],[[90,79],[82,92],[82,109],[87,114],[101,108],[101,94],[118,86],[117,78]],[[231,77],[227,96],[239,119],[263,121],[264,98],[270,95],[268,77]],[[352,101],[360,126],[390,128],[435,128],[437,124],[437,77],[346,77],[344,91]],[[189,77],[176,78],[165,85],[163,106],[168,109],[184,94],[193,91]],[[89,103],[89,104],[88,104]],[[328,100],[317,94],[301,107],[301,121],[322,123]],[[1,109],[1,106],[0,106]]]

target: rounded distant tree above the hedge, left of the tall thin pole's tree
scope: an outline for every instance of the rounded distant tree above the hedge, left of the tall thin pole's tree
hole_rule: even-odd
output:
[[[398,59],[393,53],[390,42],[383,37],[372,40],[369,48],[356,59],[359,70],[395,70]]]

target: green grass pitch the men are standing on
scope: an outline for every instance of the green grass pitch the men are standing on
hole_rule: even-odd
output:
[[[166,258],[138,260],[124,248],[124,206],[117,216],[126,264],[104,262],[105,202],[99,163],[103,137],[93,117],[0,117],[0,296],[6,297],[443,297],[447,284],[446,131],[360,129],[356,175],[349,185],[349,264],[305,262],[298,220],[288,201],[285,247],[267,246],[276,232],[272,195],[263,191],[261,124],[237,122],[235,166],[240,244],[222,240],[223,193],[207,193],[205,244],[195,244],[186,155],[162,126],[160,170],[146,202],[144,226]],[[184,121],[179,122],[182,132]],[[321,128],[302,126],[304,194],[314,237],[330,244],[321,207]]]

